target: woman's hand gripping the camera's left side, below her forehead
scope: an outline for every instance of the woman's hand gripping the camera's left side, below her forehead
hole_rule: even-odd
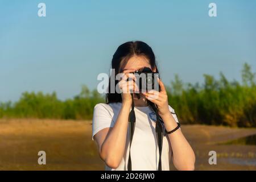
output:
[[[131,93],[135,93],[139,91],[139,88],[137,84],[135,83],[136,77],[133,74],[135,70],[133,69],[127,69],[126,71],[123,71],[122,79],[118,82],[119,89],[122,92],[122,103],[123,104],[129,104],[133,102]],[[129,80],[127,81],[127,79]]]

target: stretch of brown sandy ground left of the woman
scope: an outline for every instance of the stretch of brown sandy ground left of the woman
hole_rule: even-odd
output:
[[[40,150],[46,151],[47,165],[38,164]],[[85,121],[2,120],[0,154],[2,170],[104,169]]]

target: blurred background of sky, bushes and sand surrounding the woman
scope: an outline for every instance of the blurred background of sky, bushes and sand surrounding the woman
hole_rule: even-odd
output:
[[[217,16],[209,16],[210,3]],[[93,108],[105,102],[97,76],[109,74],[120,44],[141,40],[155,52],[196,170],[255,170],[255,7],[0,0],[0,169],[104,169],[92,141]],[[46,151],[46,165],[38,151]]]

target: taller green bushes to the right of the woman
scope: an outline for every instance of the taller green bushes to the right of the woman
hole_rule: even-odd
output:
[[[243,84],[204,75],[204,84],[187,84],[179,77],[168,89],[168,99],[183,123],[204,123],[238,127],[256,127],[255,73],[248,64],[242,69]]]

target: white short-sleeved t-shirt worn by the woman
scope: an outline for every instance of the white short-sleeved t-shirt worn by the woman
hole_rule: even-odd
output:
[[[97,104],[93,111],[93,123],[92,123],[92,139],[93,136],[100,130],[107,127],[114,127],[115,121],[119,114],[122,104],[120,102],[111,104]],[[174,109],[169,106],[176,122],[177,119]],[[133,171],[155,171],[158,167],[159,161],[159,149],[158,142],[155,133],[156,114],[150,109],[150,107],[135,107],[135,130],[133,135],[133,141],[131,143],[131,166]],[[164,127],[164,125],[163,125]],[[164,130],[165,131],[165,130]],[[170,170],[169,163],[171,160],[172,150],[169,148],[167,135],[163,137],[162,147],[162,170]],[[127,163],[129,158],[129,126],[127,129],[126,148],[125,154],[119,164],[118,168],[113,169],[105,166],[105,170],[127,170]]]

